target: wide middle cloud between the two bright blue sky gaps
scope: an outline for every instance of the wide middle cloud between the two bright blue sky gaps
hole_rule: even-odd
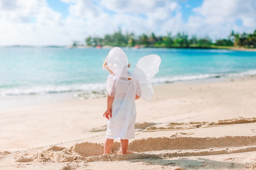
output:
[[[161,25],[174,18],[180,9],[177,2],[166,0],[93,0],[67,1],[70,18],[83,18],[84,32],[88,35],[103,36],[118,28],[136,35],[160,30]],[[96,4],[95,4],[96,3]],[[110,12],[110,13],[109,13]],[[166,34],[166,31],[164,31]]]

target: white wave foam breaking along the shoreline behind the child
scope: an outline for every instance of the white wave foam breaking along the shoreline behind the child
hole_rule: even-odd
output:
[[[244,77],[256,75],[255,70],[248,70],[240,73],[219,73],[219,74],[199,74],[199,75],[180,75],[173,77],[159,77],[150,79],[153,84],[172,83],[189,80],[199,80],[208,78],[219,77]],[[106,84],[76,84],[66,86],[37,86],[31,88],[2,88],[0,89],[0,97],[12,96],[12,95],[38,95],[47,93],[64,93],[64,92],[76,92],[85,91],[92,93],[92,91],[100,92],[106,90]]]

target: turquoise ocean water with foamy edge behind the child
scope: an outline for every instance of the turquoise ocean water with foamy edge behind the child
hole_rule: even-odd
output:
[[[153,84],[256,75],[256,52],[213,49],[122,48],[133,72],[140,57],[162,63]],[[0,47],[0,99],[10,96],[92,92],[105,89],[102,63],[108,48]]]

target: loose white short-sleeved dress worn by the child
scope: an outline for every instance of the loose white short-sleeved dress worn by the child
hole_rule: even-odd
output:
[[[106,138],[132,139],[135,138],[135,94],[139,87],[133,79],[120,78],[109,75],[107,88],[110,96],[114,96],[112,103],[112,117],[108,120]]]

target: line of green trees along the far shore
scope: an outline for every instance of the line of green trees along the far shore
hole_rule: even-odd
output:
[[[106,34],[104,38],[87,37],[85,43],[89,46],[144,46],[144,47],[166,47],[166,48],[212,48],[214,46],[237,46],[245,48],[256,48],[256,30],[253,33],[234,33],[231,31],[227,39],[218,39],[215,43],[205,36],[198,38],[197,35],[188,35],[177,33],[172,35],[171,32],[166,36],[156,36],[154,33],[150,35],[142,34],[135,36],[134,33],[121,33],[121,29],[111,34]]]

